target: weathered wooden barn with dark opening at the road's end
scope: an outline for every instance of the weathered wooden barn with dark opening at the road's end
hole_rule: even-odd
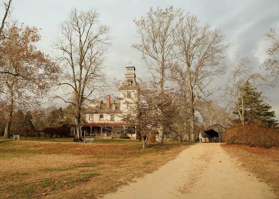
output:
[[[220,124],[214,124],[205,130],[199,130],[198,142],[212,143],[223,142],[223,134],[226,132],[226,128]]]

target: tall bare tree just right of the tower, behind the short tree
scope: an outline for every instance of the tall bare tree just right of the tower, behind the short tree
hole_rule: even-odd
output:
[[[142,53],[142,59],[153,77],[158,78],[161,93],[164,82],[170,79],[169,62],[174,58],[175,29],[182,13],[181,9],[175,10],[173,6],[166,9],[158,7],[156,10],[151,7],[146,16],[134,20],[140,43],[133,44],[133,47]],[[158,143],[163,143],[162,125],[159,127]]]

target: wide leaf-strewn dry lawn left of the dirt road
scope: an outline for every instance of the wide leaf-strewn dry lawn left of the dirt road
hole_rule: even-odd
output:
[[[0,198],[97,198],[174,159],[188,143],[122,139],[0,140]]]

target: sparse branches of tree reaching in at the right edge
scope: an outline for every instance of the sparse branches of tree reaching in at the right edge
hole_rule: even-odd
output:
[[[271,42],[271,47],[267,49],[267,60],[260,67],[263,67],[270,73],[267,75],[269,81],[273,84],[279,81],[279,33],[277,28],[270,28],[264,34],[264,41]]]

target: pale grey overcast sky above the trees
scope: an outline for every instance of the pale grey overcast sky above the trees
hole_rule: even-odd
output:
[[[124,79],[125,67],[130,61],[130,46],[137,42],[133,19],[148,12],[149,8],[182,8],[196,15],[203,25],[207,22],[213,28],[221,28],[230,43],[227,52],[227,63],[234,55],[247,56],[252,61],[255,71],[266,58],[265,52],[270,44],[263,41],[263,35],[271,27],[279,24],[279,1],[96,1],[96,0],[13,0],[13,15],[19,22],[41,28],[42,41],[38,49],[52,55],[51,42],[58,35],[58,24],[67,19],[67,13],[73,7],[86,10],[95,7],[100,13],[100,21],[112,27],[112,47],[109,48],[106,66],[111,79]],[[136,75],[144,76],[146,69],[139,52],[132,50],[132,62]],[[226,80],[219,80],[223,83]],[[266,92],[279,119],[279,87]]]

